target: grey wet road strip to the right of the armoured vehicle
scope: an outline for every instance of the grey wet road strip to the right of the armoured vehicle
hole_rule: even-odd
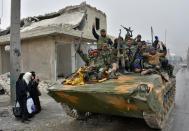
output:
[[[177,74],[176,108],[170,131],[189,131],[189,72]]]

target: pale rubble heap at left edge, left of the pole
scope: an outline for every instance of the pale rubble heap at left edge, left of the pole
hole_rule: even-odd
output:
[[[0,92],[10,94],[10,73],[0,75]]]

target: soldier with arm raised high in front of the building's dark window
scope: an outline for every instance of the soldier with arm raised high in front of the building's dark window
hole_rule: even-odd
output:
[[[108,44],[109,47],[111,47],[113,45],[113,42],[107,36],[105,29],[100,30],[100,35],[98,35],[95,30],[95,25],[93,24],[92,33],[93,33],[93,36],[97,39],[97,48],[98,49],[101,48],[102,44],[104,44],[104,43]]]

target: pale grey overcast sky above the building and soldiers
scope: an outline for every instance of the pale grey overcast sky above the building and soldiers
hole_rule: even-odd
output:
[[[0,0],[1,1],[1,0]],[[10,24],[10,1],[4,0],[1,27]],[[82,0],[21,0],[21,17],[58,11],[68,5],[80,4]],[[150,40],[150,27],[165,41],[171,52],[185,56],[189,47],[189,1],[188,0],[86,0],[88,4],[107,15],[108,33],[118,35],[120,25],[131,26],[134,35],[141,34]]]

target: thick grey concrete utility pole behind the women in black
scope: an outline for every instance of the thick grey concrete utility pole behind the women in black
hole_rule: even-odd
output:
[[[21,72],[21,41],[20,41],[20,8],[21,0],[11,0],[10,28],[10,90],[11,104],[16,100],[16,80]]]

